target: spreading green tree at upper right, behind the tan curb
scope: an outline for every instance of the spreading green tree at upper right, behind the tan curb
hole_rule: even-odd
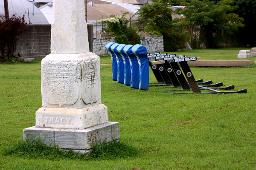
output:
[[[235,46],[238,45],[238,28],[244,25],[243,18],[229,13],[237,8],[232,4],[233,0],[221,0],[217,4],[209,0],[191,0],[184,3],[187,8],[177,9],[177,12],[184,14],[191,23],[200,25],[200,39],[207,48],[217,48],[227,43]]]

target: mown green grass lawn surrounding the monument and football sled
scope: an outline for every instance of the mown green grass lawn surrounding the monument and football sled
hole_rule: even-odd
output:
[[[237,59],[248,48],[176,52],[202,59]],[[169,54],[172,54],[170,52]],[[163,89],[133,89],[111,80],[111,65],[101,65],[102,103],[108,120],[120,122],[124,144],[143,150],[126,159],[72,160],[4,156],[3,148],[23,138],[41,108],[41,61],[0,64],[0,169],[26,170],[248,170],[256,169],[256,65],[192,67],[195,79],[247,88],[246,94],[173,95]],[[101,63],[111,63],[101,56]],[[156,79],[150,70],[150,82]]]

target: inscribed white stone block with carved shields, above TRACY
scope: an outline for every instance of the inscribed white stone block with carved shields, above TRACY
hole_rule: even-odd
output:
[[[41,71],[44,107],[85,108],[101,102],[100,63],[94,53],[49,54]]]

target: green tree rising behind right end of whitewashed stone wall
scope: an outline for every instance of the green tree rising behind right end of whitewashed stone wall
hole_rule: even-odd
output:
[[[138,11],[135,27],[148,31],[151,35],[163,35],[164,51],[176,51],[186,42],[186,34],[177,32],[177,27],[172,23],[172,8],[169,4],[158,0],[145,4]]]

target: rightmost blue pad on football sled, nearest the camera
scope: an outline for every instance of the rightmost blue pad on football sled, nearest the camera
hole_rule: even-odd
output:
[[[149,65],[148,65],[148,51],[144,45],[136,44],[131,48],[136,55],[140,65],[140,90],[148,90],[149,86]]]

